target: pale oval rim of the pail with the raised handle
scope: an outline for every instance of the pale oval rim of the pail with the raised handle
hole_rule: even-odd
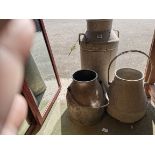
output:
[[[121,78],[120,76],[117,75],[117,72],[118,72],[119,70],[123,70],[123,69],[130,69],[130,70],[137,71],[137,72],[139,72],[139,73],[141,74],[142,77],[139,78],[139,79],[136,79],[136,80],[128,80],[128,79],[125,79],[125,78]],[[137,69],[134,69],[134,68],[120,68],[120,69],[118,69],[118,70],[115,71],[115,77],[118,78],[118,79],[120,79],[120,80],[128,81],[128,82],[137,82],[137,81],[142,81],[142,80],[144,80],[144,74],[143,74],[141,71],[139,71],[139,70],[137,70]]]

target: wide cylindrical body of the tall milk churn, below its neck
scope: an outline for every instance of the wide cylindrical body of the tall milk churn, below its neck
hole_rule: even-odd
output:
[[[89,32],[86,32],[86,34]],[[97,34],[97,32],[95,32]],[[106,89],[108,88],[108,65],[113,57],[116,56],[118,50],[119,37],[115,31],[103,32],[106,38],[100,40],[86,40],[83,38],[80,41],[80,56],[81,56],[81,68],[92,69],[99,75],[99,79],[104,82]],[[86,35],[86,37],[89,35]],[[115,71],[115,64],[113,64],[110,74],[111,80],[113,79],[113,72]]]

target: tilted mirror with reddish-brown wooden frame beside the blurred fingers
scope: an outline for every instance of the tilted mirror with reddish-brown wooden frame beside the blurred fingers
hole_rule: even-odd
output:
[[[28,115],[18,134],[36,134],[40,130],[61,90],[44,22],[41,19],[34,22],[36,33],[25,66],[22,88],[28,104]]]

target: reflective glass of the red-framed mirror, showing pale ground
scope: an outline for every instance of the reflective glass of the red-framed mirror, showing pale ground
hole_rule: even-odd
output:
[[[35,20],[35,23],[36,33],[26,65],[25,79],[43,116],[58,90],[58,84],[39,22]]]

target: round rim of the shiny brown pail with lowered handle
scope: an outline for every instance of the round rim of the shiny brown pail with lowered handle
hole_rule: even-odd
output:
[[[87,80],[86,80],[86,81],[76,80],[76,79],[74,78],[74,75],[77,74],[78,72],[81,72],[81,71],[90,71],[90,72],[92,72],[92,73],[95,74],[95,78],[93,78],[92,80],[89,80],[89,81],[87,81]],[[76,81],[76,82],[80,82],[80,83],[89,83],[89,82],[93,82],[93,81],[95,81],[95,80],[97,80],[97,79],[98,79],[98,73],[95,72],[95,71],[92,70],[92,69],[80,69],[80,70],[77,70],[76,72],[74,72],[73,75],[72,75],[72,80],[73,80],[73,81]]]

